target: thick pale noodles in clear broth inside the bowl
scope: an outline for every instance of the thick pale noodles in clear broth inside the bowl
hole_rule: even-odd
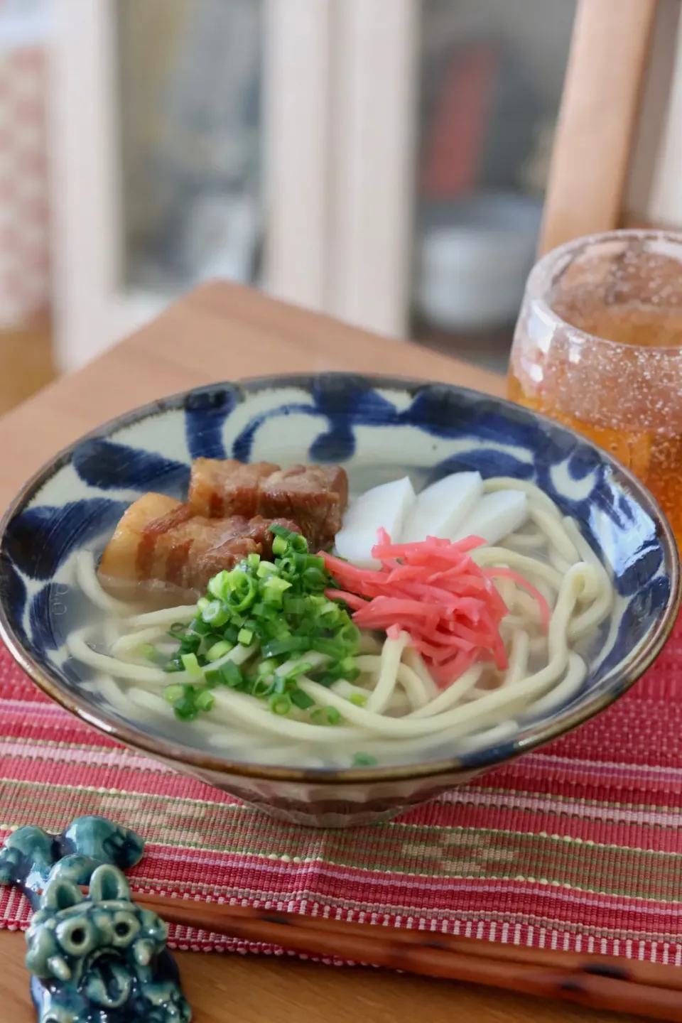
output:
[[[339,679],[330,686],[308,674],[297,679],[315,707],[337,711],[333,725],[314,723],[295,707],[279,716],[267,702],[225,686],[213,691],[210,713],[180,724],[163,697],[169,675],[145,661],[141,648],[155,643],[171,656],[177,643],[169,627],[188,623],[196,607],[139,613],[104,592],[92,552],[82,551],[77,582],[100,612],[97,625],[73,631],[67,638],[71,656],[95,676],[82,684],[99,693],[124,717],[144,719],[167,733],[171,729],[186,744],[249,762],[308,767],[407,762],[457,754],[513,735],[525,721],[551,713],[580,692],[589,642],[609,614],[613,592],[606,570],[576,522],[564,518],[546,494],[512,479],[485,484],[489,493],[500,489],[526,492],[529,523],[503,543],[479,547],[471,557],[482,567],[514,570],[543,594],[551,610],[549,627],[543,630],[537,601],[511,578],[495,580],[508,609],[500,626],[508,657],[504,671],[492,663],[476,663],[444,688],[410,646],[407,632],[397,637],[367,632],[356,659],[357,679]],[[254,656],[254,650],[238,643],[212,667],[229,661],[247,665]],[[301,659],[312,665],[321,657],[311,652]],[[194,684],[197,679],[180,672],[172,681]]]

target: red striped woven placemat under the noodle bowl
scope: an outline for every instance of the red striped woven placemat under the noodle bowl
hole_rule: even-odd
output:
[[[143,836],[135,891],[682,965],[682,624],[634,691],[572,735],[396,820],[327,832],[117,746],[2,650],[0,835],[82,813]],[[29,915],[2,890],[0,926]],[[183,928],[172,944],[244,947]]]

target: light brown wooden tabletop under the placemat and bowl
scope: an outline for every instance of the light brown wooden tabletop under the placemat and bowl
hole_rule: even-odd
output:
[[[0,419],[0,503],[55,449],[141,402],[212,381],[284,371],[354,369],[447,381],[503,394],[502,377],[353,329],[262,295],[214,283],[150,326]],[[1,810],[1,807],[0,807]],[[27,807],[27,819],[32,817]],[[0,932],[0,1019],[34,1020],[24,938]],[[626,1023],[564,1003],[374,970],[282,959],[178,955],[196,1023]]]

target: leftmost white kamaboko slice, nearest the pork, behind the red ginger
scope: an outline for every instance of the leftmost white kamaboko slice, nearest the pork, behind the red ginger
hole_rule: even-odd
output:
[[[361,494],[349,507],[343,528],[336,533],[335,546],[340,557],[354,565],[378,566],[372,559],[376,531],[385,529],[395,541],[414,501],[414,489],[407,476]]]

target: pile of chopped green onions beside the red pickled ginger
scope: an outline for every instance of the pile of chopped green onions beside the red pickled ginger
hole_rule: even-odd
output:
[[[212,690],[219,685],[268,700],[276,714],[297,707],[321,724],[342,720],[335,708],[316,707],[297,679],[307,672],[324,685],[357,678],[359,630],[349,609],[325,596],[333,579],[324,559],[310,553],[300,533],[282,526],[271,527],[271,532],[272,561],[249,554],[230,571],[217,573],[191,622],[176,622],[169,629],[178,640],[178,652],[165,670],[191,676],[191,684],[168,687],[182,720],[210,709]],[[236,643],[258,653],[253,667],[242,670],[231,660],[213,667]],[[354,702],[360,706],[357,698]]]

